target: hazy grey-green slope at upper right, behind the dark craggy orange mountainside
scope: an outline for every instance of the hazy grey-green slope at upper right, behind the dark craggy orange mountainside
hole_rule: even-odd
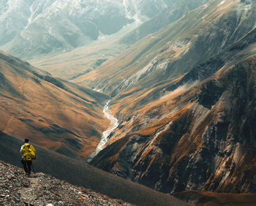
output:
[[[182,75],[251,31],[254,14],[253,2],[209,1],[74,82],[115,96],[125,88],[145,88]]]

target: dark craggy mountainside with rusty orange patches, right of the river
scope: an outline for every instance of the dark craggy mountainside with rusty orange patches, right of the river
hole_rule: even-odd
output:
[[[164,192],[255,192],[255,78],[253,30],[187,75],[117,96],[120,125],[91,164]]]

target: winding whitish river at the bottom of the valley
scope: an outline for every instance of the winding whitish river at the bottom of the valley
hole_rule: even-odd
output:
[[[99,153],[105,147],[105,144],[108,142],[108,136],[110,135],[111,131],[113,131],[114,129],[116,129],[118,127],[118,119],[114,118],[113,115],[110,115],[108,113],[108,112],[110,112],[110,108],[108,107],[109,102],[110,102],[110,100],[103,107],[103,113],[104,113],[105,117],[110,120],[110,129],[103,131],[99,145],[94,150],[94,152],[89,155],[89,159],[87,159],[88,162],[90,162],[91,159],[94,158],[94,156],[97,156],[97,153]]]

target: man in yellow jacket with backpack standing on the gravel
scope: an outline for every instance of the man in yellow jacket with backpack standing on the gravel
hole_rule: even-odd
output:
[[[25,139],[24,142],[25,144],[20,148],[20,153],[23,154],[21,163],[23,164],[26,175],[30,175],[32,159],[35,159],[35,149],[29,144],[29,139]]]

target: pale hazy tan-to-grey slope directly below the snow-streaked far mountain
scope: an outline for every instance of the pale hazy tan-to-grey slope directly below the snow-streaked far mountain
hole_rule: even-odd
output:
[[[140,4],[145,4],[145,6],[140,5],[138,8],[146,9],[146,5],[150,5],[149,2],[151,1],[140,1]],[[161,28],[181,18],[185,12],[199,7],[206,1],[195,0],[188,2],[182,0],[168,2],[168,4],[167,2],[160,4],[162,9],[166,8],[163,9],[159,15],[146,20],[145,23],[142,23],[142,20],[135,21],[133,25],[126,26],[121,29],[121,31],[108,37],[102,37],[93,44],[80,47],[68,53],[56,56],[45,56],[44,58],[35,59],[30,62],[34,66],[44,69],[54,76],[78,82],[80,81],[80,76],[86,75],[109,58],[121,53],[121,51],[129,47],[129,45],[134,44],[148,34],[159,31]],[[160,1],[152,1],[151,3],[159,4]],[[126,7],[130,7],[127,6],[127,4],[127,2],[124,2]],[[143,9],[141,9],[140,12],[143,12]],[[154,10],[158,11],[158,9]],[[60,59],[62,61],[59,61]],[[70,67],[72,69],[70,69]],[[81,80],[83,80],[83,77]]]

